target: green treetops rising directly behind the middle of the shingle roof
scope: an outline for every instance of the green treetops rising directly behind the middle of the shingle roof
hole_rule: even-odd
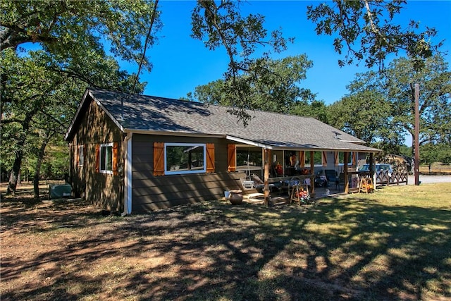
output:
[[[261,70],[262,73],[244,72],[235,78],[235,83],[248,84],[242,92],[245,99],[243,109],[293,113],[327,121],[326,105],[315,100],[315,95],[310,90],[299,87],[299,83],[307,78],[307,69],[312,66],[307,56],[288,56],[279,60],[260,59],[258,63],[259,66],[255,68],[251,66],[252,70]],[[194,94],[188,94],[187,98],[197,102],[234,106],[231,87],[232,79],[216,80],[196,87]]]

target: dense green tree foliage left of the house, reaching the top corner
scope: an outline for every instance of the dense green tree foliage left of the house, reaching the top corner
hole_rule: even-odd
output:
[[[155,8],[146,0],[1,2],[1,163],[12,169],[8,191],[23,158],[27,165],[35,161],[39,175],[47,144],[61,139],[86,87],[142,92],[137,75],[120,70],[104,44],[150,70],[144,53],[161,25]],[[42,50],[26,52],[21,45],[27,42]]]

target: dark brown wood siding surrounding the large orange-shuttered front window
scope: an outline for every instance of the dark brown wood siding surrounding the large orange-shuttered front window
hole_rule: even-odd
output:
[[[214,143],[214,173],[154,176],[154,142]],[[225,139],[140,135],[132,137],[132,211],[142,212],[223,197],[240,188],[242,173],[228,173]]]

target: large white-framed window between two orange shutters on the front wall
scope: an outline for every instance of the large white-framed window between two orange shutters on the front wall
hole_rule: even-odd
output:
[[[164,144],[164,173],[205,173],[206,145],[190,143]]]

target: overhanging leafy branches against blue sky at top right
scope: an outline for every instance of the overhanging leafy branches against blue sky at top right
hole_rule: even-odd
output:
[[[407,56],[417,58],[415,68],[423,66],[423,60],[431,57],[441,46],[431,43],[437,34],[434,28],[426,27],[419,32],[419,22],[410,20],[409,24],[397,25],[393,18],[400,13],[407,1],[342,1],[307,6],[307,18],[316,23],[318,35],[337,35],[333,46],[345,58],[338,64],[357,64],[364,60],[365,65],[383,67],[389,54],[405,51]]]

